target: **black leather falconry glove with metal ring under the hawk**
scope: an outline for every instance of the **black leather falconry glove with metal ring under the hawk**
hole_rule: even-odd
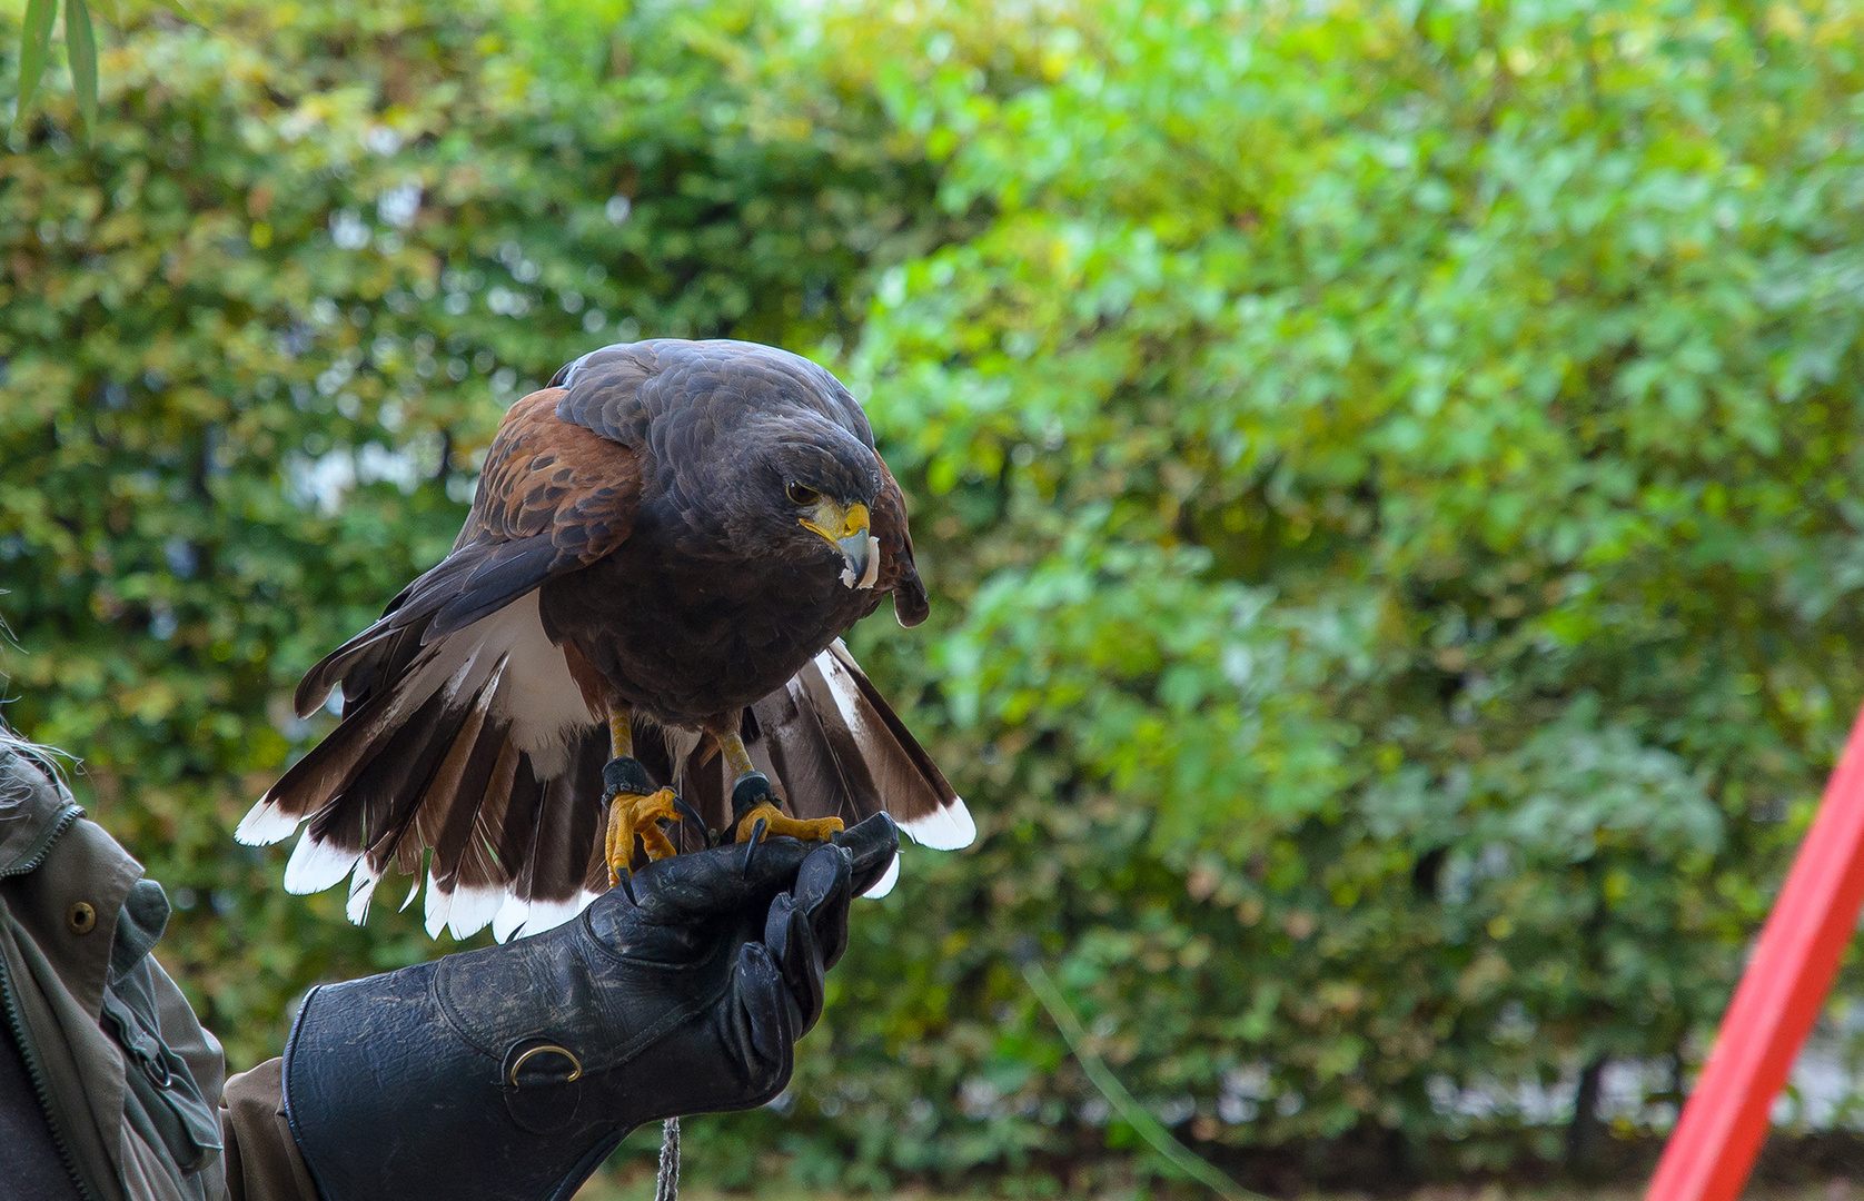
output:
[[[324,1201],[567,1199],[645,1121],[764,1104],[897,849],[882,813],[680,854],[554,931],[313,988],[283,1076]]]

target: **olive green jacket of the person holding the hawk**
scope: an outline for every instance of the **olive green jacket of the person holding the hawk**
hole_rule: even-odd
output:
[[[220,1042],[149,953],[168,912],[62,781],[0,744],[0,1022],[78,1194],[315,1201],[278,1061],[224,1082]]]

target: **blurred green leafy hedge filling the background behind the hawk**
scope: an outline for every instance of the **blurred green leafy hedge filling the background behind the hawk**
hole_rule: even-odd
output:
[[[298,675],[503,405],[733,336],[869,407],[936,595],[856,651],[982,837],[690,1171],[1169,1177],[1029,960],[1269,1188],[1674,1117],[1864,697],[1857,7],[190,11],[101,37],[88,142],[54,50],[0,159],[0,671],[235,1067],[449,949],[233,845]]]

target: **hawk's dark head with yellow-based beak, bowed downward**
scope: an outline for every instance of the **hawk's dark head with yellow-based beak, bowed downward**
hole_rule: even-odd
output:
[[[882,487],[872,448],[828,421],[809,421],[803,436],[777,442],[766,468],[774,548],[798,559],[839,554],[841,582],[872,587],[880,574],[872,505]]]

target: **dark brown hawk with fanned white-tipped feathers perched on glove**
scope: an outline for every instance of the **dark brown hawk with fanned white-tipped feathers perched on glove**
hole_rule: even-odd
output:
[[[300,716],[341,688],[343,720],[235,837],[308,821],[285,888],[349,875],[358,923],[390,865],[406,908],[425,858],[429,934],[500,940],[714,832],[887,809],[969,845],[841,643],[885,595],[926,617],[900,487],[833,375],[744,341],[593,351],[505,414],[453,552],[298,684]]]

